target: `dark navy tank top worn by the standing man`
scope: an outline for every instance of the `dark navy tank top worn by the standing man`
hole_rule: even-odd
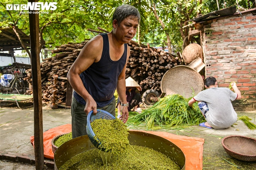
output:
[[[103,37],[103,51],[101,59],[94,62],[88,69],[80,74],[80,78],[85,89],[94,98],[97,107],[107,106],[114,99],[114,92],[117,81],[127,60],[127,44],[124,44],[124,52],[118,61],[110,58],[108,35],[100,34]],[[74,97],[81,104],[86,104],[85,100],[76,92]]]

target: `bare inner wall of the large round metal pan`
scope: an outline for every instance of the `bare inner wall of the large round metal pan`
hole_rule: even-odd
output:
[[[129,131],[128,139],[131,145],[153,148],[174,160],[182,170],[185,170],[185,155],[179,147],[169,140],[157,135],[140,131]],[[76,137],[62,144],[54,153],[54,170],[58,170],[65,162],[75,155],[94,149],[88,135]]]

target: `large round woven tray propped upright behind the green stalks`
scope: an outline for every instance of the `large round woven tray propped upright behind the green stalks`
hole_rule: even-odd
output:
[[[185,98],[196,96],[204,88],[202,76],[188,66],[175,66],[161,80],[161,91],[166,95],[179,94]]]

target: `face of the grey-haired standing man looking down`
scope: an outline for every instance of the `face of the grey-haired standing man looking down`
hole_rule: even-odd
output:
[[[128,43],[137,33],[138,18],[135,18],[134,16],[128,16],[120,23],[119,26],[117,21],[114,20],[113,27],[116,28],[115,33],[118,40],[122,41],[123,43]]]

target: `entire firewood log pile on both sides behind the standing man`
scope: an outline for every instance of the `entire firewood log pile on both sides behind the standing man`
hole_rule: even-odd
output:
[[[66,75],[69,68],[78,57],[80,51],[88,41],[79,44],[64,44],[57,46],[52,53],[54,57],[45,58],[41,65],[43,102],[50,102],[55,106],[57,104],[65,104],[66,97]],[[131,76],[142,87],[142,92],[148,89],[160,90],[161,79],[164,73],[170,68],[177,66],[183,62],[179,57],[170,55],[169,53],[155,49],[153,47],[141,45],[131,41],[130,58],[126,68],[126,78]],[[31,69],[27,70],[27,80],[32,87]],[[54,81],[54,77],[58,77]],[[30,88],[27,92],[32,93]]]

